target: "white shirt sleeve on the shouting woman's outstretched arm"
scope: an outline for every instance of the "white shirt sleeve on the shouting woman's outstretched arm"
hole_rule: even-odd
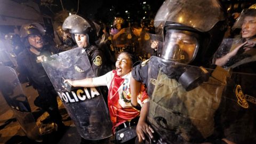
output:
[[[95,86],[110,86],[110,83],[114,77],[112,71],[109,71],[106,75],[92,78],[92,82]]]

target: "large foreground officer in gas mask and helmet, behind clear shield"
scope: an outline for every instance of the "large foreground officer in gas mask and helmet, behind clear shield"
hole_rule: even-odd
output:
[[[215,129],[220,126],[215,116],[227,100],[222,92],[228,75],[209,65],[227,28],[225,7],[218,0],[167,0],[154,25],[163,29],[161,58],[151,57],[132,70],[132,98],[138,82],[147,85],[151,97],[145,110],[150,125],[138,123],[139,139],[149,135],[153,143],[225,143]]]

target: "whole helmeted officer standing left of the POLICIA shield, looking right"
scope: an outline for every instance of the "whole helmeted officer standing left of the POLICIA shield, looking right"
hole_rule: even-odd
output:
[[[57,93],[47,76],[42,61],[37,57],[47,57],[61,52],[55,46],[45,45],[42,39],[44,28],[39,23],[28,23],[20,28],[21,41],[26,48],[17,57],[18,72],[28,74],[33,80],[33,87],[39,96],[34,101],[35,106],[47,111],[50,118],[58,125],[58,131],[63,130],[65,125],[62,123],[58,109]]]

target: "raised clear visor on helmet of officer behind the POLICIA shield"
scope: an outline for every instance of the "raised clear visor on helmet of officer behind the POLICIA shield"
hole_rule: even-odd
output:
[[[79,33],[86,30],[86,28],[91,27],[90,24],[79,15],[70,15],[63,23],[62,29],[70,29],[71,33]]]

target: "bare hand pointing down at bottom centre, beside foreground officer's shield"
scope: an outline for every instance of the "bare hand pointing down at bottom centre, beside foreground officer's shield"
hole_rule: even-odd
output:
[[[136,127],[136,132],[139,138],[139,142],[141,142],[141,140],[145,140],[145,134],[150,136],[151,139],[153,139],[153,134],[154,130],[146,123],[146,122],[138,122],[137,127]],[[149,142],[149,141],[148,141]]]

